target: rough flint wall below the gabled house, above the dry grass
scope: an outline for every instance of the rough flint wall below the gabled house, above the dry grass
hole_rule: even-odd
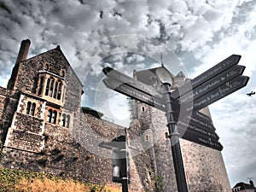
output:
[[[114,137],[124,135],[125,130],[120,129],[122,127],[119,125],[88,113],[81,113],[80,118],[75,122],[78,124],[70,129],[45,123],[44,134],[41,137],[39,135],[31,137],[32,133],[21,130],[10,131],[12,139],[8,148],[3,148],[2,166],[32,172],[48,172],[61,177],[73,177],[90,183],[120,187],[119,184],[112,182],[111,151],[97,147],[96,143],[99,143],[102,138],[104,141],[111,141]],[[95,137],[95,133],[98,137]],[[15,138],[18,140],[16,141]],[[40,143],[42,138],[44,145]],[[87,146],[89,143],[91,146]],[[29,146],[31,148],[28,148]],[[36,148],[40,146],[44,148],[37,151]],[[134,191],[144,190],[145,182],[141,180],[141,176],[145,172],[143,170],[145,162],[141,158],[142,156],[139,158],[142,162],[138,164],[139,161],[136,161],[135,164],[131,157],[129,188]],[[137,167],[140,169],[137,170]]]

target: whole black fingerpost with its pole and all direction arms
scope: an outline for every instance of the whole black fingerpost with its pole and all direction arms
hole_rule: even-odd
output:
[[[102,70],[108,77],[103,79],[103,83],[109,89],[166,112],[178,191],[188,191],[178,136],[210,148],[223,149],[218,143],[219,137],[215,133],[212,120],[198,110],[246,86],[249,78],[241,76],[245,67],[236,65],[240,59],[241,55],[230,55],[172,92],[171,84],[163,82],[163,93],[113,68],[105,67]],[[187,112],[192,111],[192,116],[185,115],[177,122],[177,112],[180,111],[181,105],[184,105]]]

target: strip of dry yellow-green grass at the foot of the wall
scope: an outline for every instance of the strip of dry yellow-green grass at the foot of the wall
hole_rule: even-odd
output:
[[[0,168],[0,192],[119,192],[108,186],[81,183],[49,174]]]

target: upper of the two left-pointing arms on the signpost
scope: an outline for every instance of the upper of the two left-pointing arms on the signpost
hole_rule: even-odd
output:
[[[147,93],[159,99],[162,98],[162,93],[155,90],[153,87],[149,86],[148,84],[143,84],[142,82],[137,81],[136,79],[132,79],[124,73],[119,73],[119,71],[116,71],[111,67],[105,67],[102,71],[104,74],[107,75],[108,78],[119,80],[119,82],[128,84],[137,90],[143,91],[144,93]]]

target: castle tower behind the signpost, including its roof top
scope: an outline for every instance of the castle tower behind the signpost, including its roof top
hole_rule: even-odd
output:
[[[153,86],[157,90],[160,88],[160,77],[158,71],[166,70],[163,65],[144,71],[134,72],[134,77],[144,84]],[[172,77],[172,90],[184,84],[187,80],[182,72]],[[171,82],[170,82],[171,83]],[[145,151],[150,156],[152,169],[154,170],[154,182],[163,191],[177,191],[176,177],[172,161],[172,151],[169,142],[166,116],[156,108],[149,107],[142,102],[132,101],[133,122],[139,122],[142,143]],[[208,108],[203,108],[201,113],[205,113],[211,118]],[[131,134],[134,132],[131,126]],[[149,145],[148,145],[149,143]],[[190,192],[228,192],[230,182],[224,166],[224,160],[220,151],[191,143],[180,139],[183,163]]]

